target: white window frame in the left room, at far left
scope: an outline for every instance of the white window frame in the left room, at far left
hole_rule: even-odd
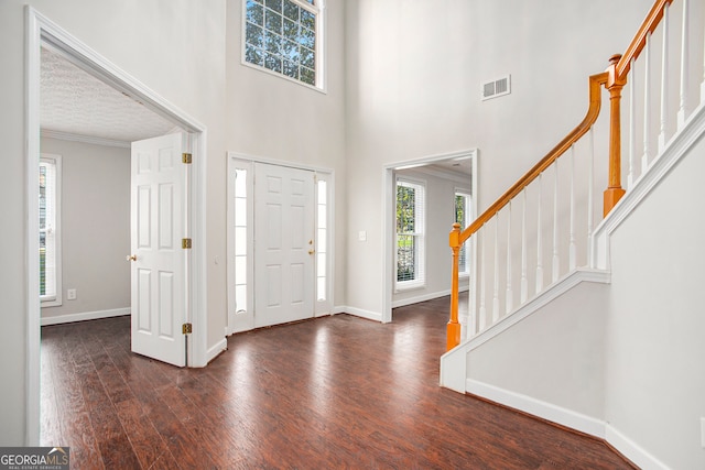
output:
[[[51,265],[51,263],[45,261],[44,271],[45,278],[48,275],[53,276],[54,292],[48,294],[40,294],[40,300],[42,307],[58,307],[62,305],[62,156],[54,155],[48,153],[42,153],[40,156],[40,167],[42,165],[53,165],[54,166],[54,194],[53,194],[53,205],[47,204],[46,217],[48,220],[46,221],[46,229],[42,229],[40,226],[40,231],[37,236],[42,232],[45,232],[46,244],[53,245],[51,255],[53,255],[53,270],[47,270],[46,267]],[[39,177],[39,174],[37,174]],[[39,195],[37,195],[39,197]],[[47,195],[47,198],[50,195]],[[47,253],[50,251],[47,250]],[[46,256],[46,254],[45,254]],[[41,274],[41,270],[40,270]]]

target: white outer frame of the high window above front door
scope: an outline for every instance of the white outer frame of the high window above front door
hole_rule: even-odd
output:
[[[283,1],[283,0],[282,0]],[[288,75],[284,75],[283,73],[280,72],[275,72],[272,69],[269,69],[267,67],[263,67],[261,65],[258,64],[252,64],[251,62],[248,62],[246,58],[246,51],[247,51],[247,2],[248,0],[242,0],[242,22],[241,22],[241,47],[240,47],[240,63],[247,67],[250,68],[254,68],[260,72],[264,72],[267,74],[270,75],[274,75],[276,77],[283,78],[285,80],[292,81],[294,84],[299,84],[301,86],[304,86],[306,88],[311,88],[317,91],[322,91],[322,92],[326,92],[327,89],[327,85],[326,85],[326,74],[325,74],[325,64],[326,64],[326,59],[325,59],[325,54],[326,54],[326,47],[325,47],[325,0],[315,0],[315,4],[311,4],[305,0],[289,0],[293,3],[296,3],[300,8],[305,9],[306,11],[313,13],[316,18],[316,43],[314,46],[314,67],[315,67],[315,84],[311,85],[307,84],[305,81],[302,81],[301,79],[297,78],[292,78],[289,77]],[[265,0],[262,0],[262,3],[264,3]]]

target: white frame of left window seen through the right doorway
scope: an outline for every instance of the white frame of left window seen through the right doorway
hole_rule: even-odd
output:
[[[415,261],[415,277],[409,281],[399,281],[399,232],[395,232],[394,237],[394,291],[408,291],[412,288],[422,288],[426,285],[426,182],[423,179],[410,178],[408,176],[397,176],[397,183],[394,185],[394,208],[397,207],[397,188],[401,185],[408,185],[415,187],[416,190],[421,189],[421,210],[416,209],[414,212],[414,231],[411,233],[404,233],[405,236],[412,236],[416,238],[414,248],[416,253],[414,255]],[[417,195],[419,193],[416,193]],[[420,203],[414,200],[415,205]],[[394,209],[394,218],[397,210]],[[397,223],[394,222],[394,227]]]

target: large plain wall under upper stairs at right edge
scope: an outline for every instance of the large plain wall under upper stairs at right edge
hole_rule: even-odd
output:
[[[705,468],[705,142],[611,237],[606,417],[673,469]]]

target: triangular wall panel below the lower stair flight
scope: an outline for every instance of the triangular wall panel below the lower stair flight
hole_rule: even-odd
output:
[[[469,351],[468,381],[603,419],[608,288],[579,283]]]

